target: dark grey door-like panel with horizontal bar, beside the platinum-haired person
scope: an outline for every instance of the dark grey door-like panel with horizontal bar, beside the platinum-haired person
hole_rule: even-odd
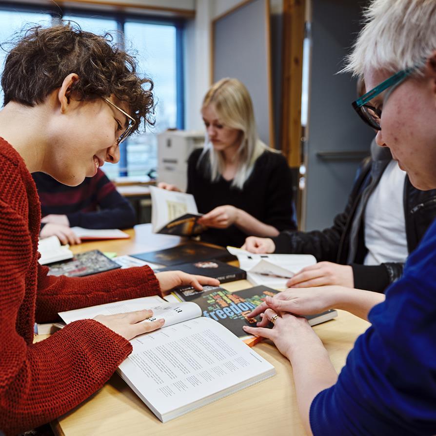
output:
[[[364,1],[313,0],[307,142],[305,229],[331,226],[351,191],[359,159],[322,159],[318,153],[368,151],[374,132],[351,106],[356,80],[336,75],[360,28]]]

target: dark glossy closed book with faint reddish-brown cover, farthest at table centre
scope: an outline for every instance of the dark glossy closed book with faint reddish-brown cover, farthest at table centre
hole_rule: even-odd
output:
[[[180,263],[194,263],[203,260],[219,259],[221,261],[236,259],[225,248],[210,247],[196,242],[188,242],[166,250],[150,251],[131,255],[145,262],[172,266]]]

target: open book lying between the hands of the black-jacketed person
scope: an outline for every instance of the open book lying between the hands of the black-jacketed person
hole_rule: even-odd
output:
[[[250,283],[275,289],[286,288],[286,282],[298,271],[317,263],[312,255],[254,254],[235,247],[227,250],[238,258],[239,267],[247,272]]]

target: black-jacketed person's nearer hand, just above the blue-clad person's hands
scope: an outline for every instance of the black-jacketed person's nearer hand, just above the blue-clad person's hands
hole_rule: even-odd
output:
[[[313,286],[337,285],[354,286],[353,268],[332,262],[318,262],[307,266],[286,282],[290,288],[309,288]]]

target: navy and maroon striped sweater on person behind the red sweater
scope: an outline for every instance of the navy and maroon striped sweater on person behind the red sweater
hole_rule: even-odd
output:
[[[70,227],[126,229],[135,225],[135,211],[100,169],[78,186],[66,186],[44,173],[33,173],[41,215],[66,215]],[[41,225],[42,228],[43,225]]]

